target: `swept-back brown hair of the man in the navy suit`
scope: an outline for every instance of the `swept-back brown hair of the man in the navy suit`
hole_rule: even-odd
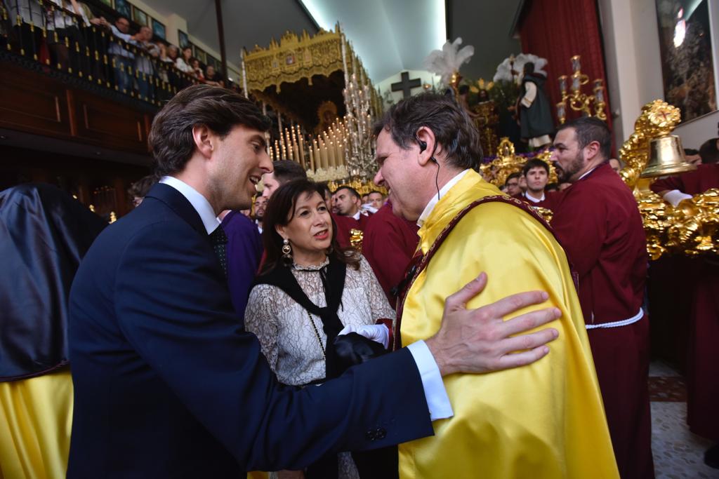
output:
[[[152,121],[148,141],[155,157],[155,175],[172,175],[185,168],[195,152],[195,125],[205,125],[224,138],[237,125],[267,131],[270,119],[255,103],[232,90],[189,86],[168,101]]]

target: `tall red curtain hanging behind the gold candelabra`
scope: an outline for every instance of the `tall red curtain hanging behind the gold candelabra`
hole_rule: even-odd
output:
[[[522,11],[518,32],[522,52],[546,58],[549,65],[545,90],[552,106],[562,100],[559,93],[559,75],[572,74],[570,58],[581,55],[582,73],[589,76],[590,83],[584,85],[583,93],[592,93],[592,81],[604,80],[605,113],[611,128],[609,95],[604,68],[604,53],[600,32],[596,0],[528,0]],[[567,88],[571,80],[567,79]],[[577,118],[580,112],[567,106],[567,119]],[[554,118],[557,111],[554,109]]]

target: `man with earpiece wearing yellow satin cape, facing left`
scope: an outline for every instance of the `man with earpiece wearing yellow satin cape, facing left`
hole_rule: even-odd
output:
[[[375,135],[375,183],[420,226],[398,302],[401,345],[434,335],[444,298],[480,271],[487,285],[467,307],[541,289],[562,311],[545,361],[444,378],[454,415],[433,423],[434,437],[399,446],[400,477],[618,478],[577,292],[549,226],[470,169],[481,157],[477,131],[451,98],[408,98]]]

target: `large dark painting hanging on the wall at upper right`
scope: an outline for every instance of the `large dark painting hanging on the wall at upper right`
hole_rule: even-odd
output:
[[[664,100],[682,121],[717,109],[713,34],[708,0],[656,0]]]

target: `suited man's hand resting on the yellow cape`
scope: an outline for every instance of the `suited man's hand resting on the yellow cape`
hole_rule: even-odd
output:
[[[531,364],[549,353],[546,343],[559,336],[552,328],[518,335],[557,320],[562,312],[556,307],[503,320],[523,307],[546,301],[549,297],[546,292],[513,294],[477,310],[467,310],[465,304],[480,294],[486,284],[487,274],[482,273],[448,297],[439,331],[426,340],[442,376],[487,373]]]

